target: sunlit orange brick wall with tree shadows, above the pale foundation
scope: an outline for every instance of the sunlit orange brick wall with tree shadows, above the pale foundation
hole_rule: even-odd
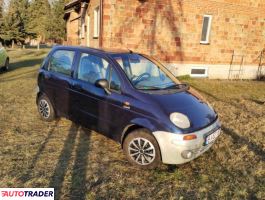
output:
[[[257,65],[264,10],[264,0],[104,0],[103,46],[200,64],[229,64],[235,50]],[[204,14],[213,16],[209,45],[200,44]]]

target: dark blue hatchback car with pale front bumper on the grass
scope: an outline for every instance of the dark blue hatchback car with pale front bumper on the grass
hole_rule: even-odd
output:
[[[128,160],[151,169],[182,164],[220,135],[213,108],[150,56],[57,46],[38,75],[41,118],[66,117],[119,142]]]

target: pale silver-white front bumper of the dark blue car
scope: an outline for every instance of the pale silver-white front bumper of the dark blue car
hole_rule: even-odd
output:
[[[165,164],[183,164],[189,162],[205,151],[207,151],[215,141],[205,145],[205,137],[208,134],[220,131],[220,122],[217,119],[213,124],[208,127],[193,132],[197,136],[197,139],[185,141],[183,136],[189,134],[176,134],[164,131],[155,131],[153,135],[155,136],[161,151],[162,162]],[[184,158],[183,154],[189,153],[190,158]]]

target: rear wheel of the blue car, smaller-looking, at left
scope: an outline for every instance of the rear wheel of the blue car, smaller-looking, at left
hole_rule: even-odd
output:
[[[43,121],[51,122],[55,120],[55,112],[51,101],[46,95],[41,95],[38,99],[38,112]]]

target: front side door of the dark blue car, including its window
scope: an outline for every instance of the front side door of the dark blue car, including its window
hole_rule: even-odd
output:
[[[110,94],[95,86],[99,79],[109,81]],[[121,93],[121,87],[120,75],[106,59],[82,53],[72,84],[75,120],[115,139],[131,116],[128,108],[124,108],[128,97]]]

